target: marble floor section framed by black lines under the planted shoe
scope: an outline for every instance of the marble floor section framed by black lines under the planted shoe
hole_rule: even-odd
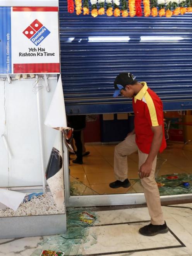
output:
[[[138,233],[138,229],[146,223],[118,224],[92,227],[90,232],[97,236],[97,244],[89,248],[89,242],[83,245],[82,254],[117,253],[134,250],[145,250],[155,247],[179,246],[180,242],[170,233],[159,234],[158,237],[146,237]],[[99,246],[98,246],[99,244]]]

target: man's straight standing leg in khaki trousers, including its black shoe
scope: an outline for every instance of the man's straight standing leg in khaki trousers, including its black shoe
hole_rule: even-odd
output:
[[[138,149],[139,153],[139,168],[146,161],[147,154],[142,153]],[[147,225],[139,230],[143,235],[156,235],[158,233],[165,233],[168,231],[165,220],[163,218],[163,211],[161,209],[161,200],[159,196],[159,189],[155,181],[155,169],[156,169],[157,157],[152,164],[152,171],[149,177],[141,179],[141,184],[144,189],[144,195],[146,198],[147,208],[151,217],[151,226]],[[150,227],[149,227],[150,226]],[[148,228],[147,228],[148,227]],[[145,229],[144,229],[145,228]]]

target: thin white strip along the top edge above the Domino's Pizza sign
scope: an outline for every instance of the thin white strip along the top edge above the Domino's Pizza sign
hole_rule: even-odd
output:
[[[1,0],[0,6],[58,6],[58,0]]]

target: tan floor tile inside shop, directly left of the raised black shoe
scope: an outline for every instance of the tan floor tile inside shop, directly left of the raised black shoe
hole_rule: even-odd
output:
[[[91,185],[105,184],[115,181],[115,176],[113,172],[89,173],[87,179]]]

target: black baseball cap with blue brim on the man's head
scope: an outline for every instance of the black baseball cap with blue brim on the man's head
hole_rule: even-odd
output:
[[[136,76],[130,72],[123,72],[118,74],[114,81],[115,92],[113,97],[117,97],[120,94],[120,91],[125,88],[126,85],[137,82],[135,78]]]

